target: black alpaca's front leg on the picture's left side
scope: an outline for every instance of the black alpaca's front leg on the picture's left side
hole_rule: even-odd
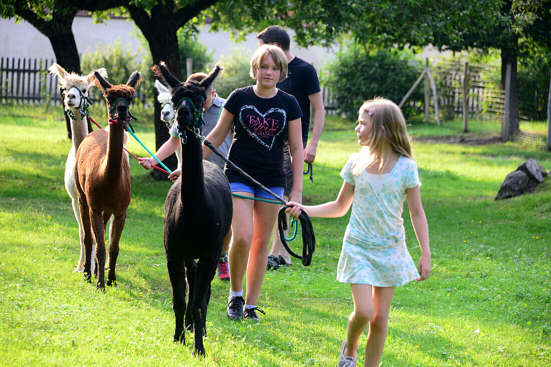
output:
[[[181,261],[167,261],[170,286],[172,288],[172,309],[176,317],[174,341],[186,344],[186,333],[183,330],[183,319],[186,313],[186,274]]]

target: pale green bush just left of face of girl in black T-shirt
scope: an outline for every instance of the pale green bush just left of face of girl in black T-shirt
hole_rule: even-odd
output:
[[[224,70],[214,82],[214,89],[220,97],[228,98],[234,89],[255,84],[249,76],[251,56],[251,51],[242,48],[233,48],[220,56],[218,64]]]

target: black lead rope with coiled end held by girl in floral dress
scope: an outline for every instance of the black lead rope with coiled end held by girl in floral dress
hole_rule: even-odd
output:
[[[295,258],[302,260],[302,265],[308,266],[310,265],[310,262],[312,262],[312,255],[314,254],[315,249],[315,243],[316,243],[316,235],[314,234],[314,228],[312,228],[312,222],[310,221],[310,217],[302,211],[299,216],[300,226],[302,227],[302,256],[295,254],[291,249],[289,249],[289,245],[287,244],[287,241],[285,240],[285,233],[284,230],[287,229],[287,216],[285,216],[285,209],[287,209],[287,202],[283,201],[279,196],[274,194],[271,190],[264,187],[260,182],[249,176],[246,172],[244,172],[241,168],[237,167],[233,162],[229,161],[228,158],[224,157],[215,147],[208,141],[207,139],[203,138],[203,144],[208,147],[208,149],[212,150],[212,152],[222,158],[228,165],[235,169],[237,173],[241,174],[241,176],[245,177],[247,181],[249,181],[251,184],[255,185],[256,187],[261,188],[262,190],[266,191],[268,194],[272,195],[274,198],[277,199],[281,204],[285,205],[279,213],[278,213],[278,229],[279,229],[279,238],[281,239],[281,242],[283,243],[283,247],[285,250],[288,251],[289,254],[293,255]]]

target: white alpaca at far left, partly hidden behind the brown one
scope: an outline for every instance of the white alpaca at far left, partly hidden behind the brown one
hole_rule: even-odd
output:
[[[69,150],[67,156],[67,162],[65,163],[65,189],[71,197],[73,205],[73,212],[78,222],[78,235],[80,238],[80,259],[77,264],[77,269],[74,271],[82,272],[84,269],[84,229],[82,227],[82,220],[80,220],[80,210],[78,207],[77,188],[74,183],[74,164],[75,155],[80,143],[88,135],[88,121],[85,115],[81,113],[85,112],[88,108],[87,98],[90,87],[94,86],[94,72],[88,75],[81,76],[76,73],[68,73],[58,64],[52,64],[50,67],[50,73],[57,75],[60,80],[60,86],[65,90],[63,104],[71,116],[71,136],[73,140],[73,146]],[[104,78],[107,78],[107,71],[105,68],[97,70]],[[110,228],[111,232],[111,228]],[[95,253],[96,244],[94,241],[93,251]],[[95,263],[91,264],[91,272],[95,270]]]

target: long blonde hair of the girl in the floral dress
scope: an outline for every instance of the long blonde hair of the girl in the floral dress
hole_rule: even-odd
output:
[[[353,174],[360,174],[371,163],[377,161],[381,171],[391,154],[412,158],[406,119],[396,103],[387,98],[376,97],[365,101],[359,113],[370,113],[371,136],[358,153],[358,160],[352,169]]]

